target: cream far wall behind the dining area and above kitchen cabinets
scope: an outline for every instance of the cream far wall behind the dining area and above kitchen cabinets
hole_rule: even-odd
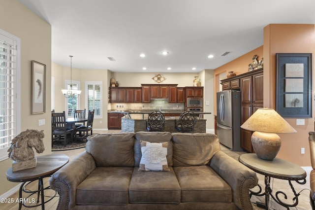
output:
[[[74,57],[72,59],[74,62]],[[160,84],[178,84],[178,87],[193,86],[193,79],[199,76],[201,85],[204,86],[205,101],[209,101],[210,105],[205,106],[205,111],[211,112],[211,115],[205,115],[207,121],[207,129],[214,129],[213,119],[213,70],[203,70],[196,73],[160,73],[166,80]],[[95,119],[93,127],[95,129],[107,129],[107,110],[110,109],[108,104],[108,87],[110,78],[115,78],[120,87],[141,87],[141,84],[157,84],[152,77],[158,73],[126,73],[126,72],[112,72],[110,70],[80,70],[72,68],[72,80],[81,82],[82,93],[80,95],[80,108],[85,108],[85,82],[86,81],[102,81],[103,82],[103,118]],[[70,80],[70,68],[63,67],[52,63],[52,74],[55,77],[55,111],[60,112],[64,110],[65,101],[61,93],[64,88],[64,80]]]

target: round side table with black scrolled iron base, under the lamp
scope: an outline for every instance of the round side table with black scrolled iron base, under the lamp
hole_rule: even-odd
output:
[[[262,160],[257,157],[256,154],[242,154],[239,157],[239,162],[252,169],[254,172],[265,176],[265,192],[262,192],[261,186],[258,184],[259,190],[254,192],[250,190],[250,196],[265,196],[265,208],[269,208],[269,197],[271,196],[278,204],[284,206],[287,210],[290,207],[295,207],[298,204],[299,194],[296,193],[291,181],[296,181],[299,184],[306,183],[306,172],[298,165],[291,163],[289,161],[283,160],[281,158],[275,158],[272,161]],[[293,204],[287,204],[281,201],[279,194],[287,195],[283,191],[277,191],[275,195],[273,194],[272,188],[270,187],[270,179],[278,178],[288,180],[289,185],[294,194]]]

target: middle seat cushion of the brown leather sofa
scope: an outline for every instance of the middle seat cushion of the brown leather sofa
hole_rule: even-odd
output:
[[[129,203],[181,202],[181,188],[172,167],[169,172],[142,172],[135,167],[129,185]]]

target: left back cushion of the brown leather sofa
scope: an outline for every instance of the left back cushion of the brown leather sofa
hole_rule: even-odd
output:
[[[101,134],[87,139],[86,151],[97,167],[134,166],[134,133]]]

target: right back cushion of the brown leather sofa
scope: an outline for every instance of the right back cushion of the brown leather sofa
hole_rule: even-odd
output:
[[[207,165],[220,150],[214,134],[173,133],[173,167]]]

